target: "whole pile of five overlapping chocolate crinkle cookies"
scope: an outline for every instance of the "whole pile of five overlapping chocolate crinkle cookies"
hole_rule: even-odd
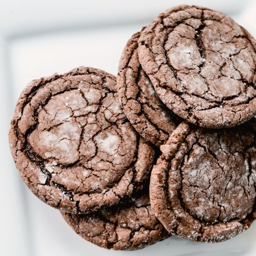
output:
[[[86,240],[219,242],[256,217],[256,41],[178,6],[128,41],[117,81],[79,67],[34,80],[10,147],[29,189]]]

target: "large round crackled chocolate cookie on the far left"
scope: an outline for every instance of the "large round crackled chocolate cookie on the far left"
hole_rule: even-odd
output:
[[[121,110],[116,78],[79,67],[32,81],[17,102],[10,147],[27,186],[71,213],[117,204],[143,187],[153,148]]]

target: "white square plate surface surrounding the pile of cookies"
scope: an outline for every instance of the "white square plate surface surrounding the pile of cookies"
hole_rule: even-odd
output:
[[[170,237],[133,252],[101,249],[76,235],[22,182],[8,146],[9,122],[26,84],[78,66],[116,74],[126,41],[178,0],[0,0],[0,255],[255,256],[256,223],[218,244]],[[183,1],[228,13],[256,37],[255,0]]]

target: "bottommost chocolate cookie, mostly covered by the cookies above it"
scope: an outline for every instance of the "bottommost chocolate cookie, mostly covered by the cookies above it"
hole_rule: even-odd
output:
[[[148,192],[91,214],[62,215],[79,236],[107,249],[141,249],[170,236],[155,217]]]

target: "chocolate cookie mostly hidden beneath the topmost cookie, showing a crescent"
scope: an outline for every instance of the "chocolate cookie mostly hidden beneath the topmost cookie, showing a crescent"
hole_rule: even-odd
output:
[[[140,34],[134,34],[123,50],[117,75],[118,93],[123,111],[136,131],[161,146],[176,128],[177,118],[158,98],[141,68],[137,53]]]

